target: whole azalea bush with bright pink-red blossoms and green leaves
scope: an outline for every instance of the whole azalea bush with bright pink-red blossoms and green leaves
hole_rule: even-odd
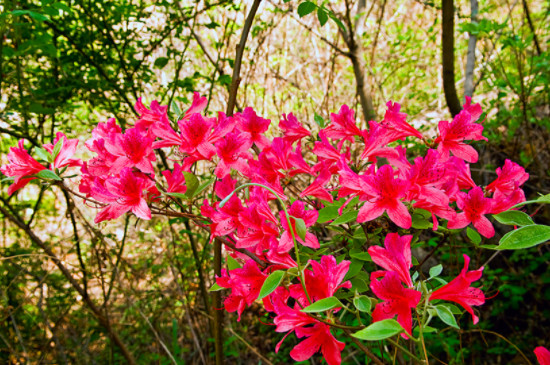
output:
[[[320,352],[330,365],[346,346],[376,364],[428,363],[429,334],[490,321],[480,306],[499,298],[482,288],[484,267],[466,254],[460,271],[449,271],[448,257],[426,267],[437,247],[460,236],[488,250],[550,239],[549,226],[521,211],[550,203],[526,201],[523,167],[506,160],[487,186],[472,179],[478,153],[469,142],[486,138],[481,106],[469,98],[452,121],[422,133],[392,102],[367,129],[343,105],[330,121],[317,118],[318,131],[292,113],[276,127],[250,107],[209,116],[206,105],[198,93],[184,112],[139,100],[131,126],[99,123],[83,146],[58,132],[31,155],[20,140],[0,170],[8,193],[31,182],[61,189],[97,210],[96,229],[133,214],[204,230],[224,248],[210,288],[222,291],[224,309],[239,321],[261,301],[283,334],[275,351],[293,335],[300,342],[285,356]],[[92,157],[75,158],[79,148]],[[495,222],[514,228],[498,244]],[[548,363],[546,349],[535,354]]]

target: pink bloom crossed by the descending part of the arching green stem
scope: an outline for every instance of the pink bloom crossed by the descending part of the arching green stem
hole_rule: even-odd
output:
[[[319,212],[316,210],[305,210],[305,204],[304,202],[300,200],[296,200],[288,209],[288,214],[290,214],[290,221],[292,223],[292,228],[294,232],[296,232],[295,227],[295,220],[294,218],[301,218],[304,220],[306,227],[311,227],[312,225],[317,222],[317,218],[319,217]],[[284,228],[284,232],[281,235],[281,239],[279,241],[279,251],[280,252],[288,252],[294,247],[294,242],[292,241],[292,235],[290,233],[290,230],[288,228],[288,222],[286,220],[285,213],[283,211],[280,212],[281,215],[281,225]],[[306,240],[305,242],[302,240],[302,238],[296,233],[296,240],[300,242],[302,245],[311,247],[311,248],[319,248],[321,247],[319,245],[319,241],[317,240],[317,237],[311,233],[306,233]]]

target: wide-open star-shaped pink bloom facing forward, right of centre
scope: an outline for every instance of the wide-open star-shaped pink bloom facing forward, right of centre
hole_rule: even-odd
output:
[[[357,222],[371,221],[387,212],[390,219],[399,227],[410,228],[411,215],[400,200],[407,193],[408,182],[394,178],[394,171],[389,165],[382,166],[376,175],[369,176],[367,179],[371,194],[375,198],[367,200],[361,207]]]

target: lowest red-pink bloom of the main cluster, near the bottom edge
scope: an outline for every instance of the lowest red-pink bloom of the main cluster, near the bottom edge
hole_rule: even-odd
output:
[[[328,365],[340,365],[342,362],[341,352],[346,344],[338,341],[332,333],[330,327],[324,323],[318,322],[313,327],[298,327],[296,336],[299,338],[307,337],[290,351],[290,357],[295,361],[306,361],[318,351],[321,351],[323,358]]]

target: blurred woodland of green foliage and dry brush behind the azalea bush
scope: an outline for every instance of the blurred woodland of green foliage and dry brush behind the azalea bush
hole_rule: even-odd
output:
[[[318,1],[326,11],[304,17],[300,3],[261,2],[247,41],[237,109],[252,106],[275,124],[292,112],[316,129],[348,104],[365,128],[393,100],[411,124],[433,136],[437,122],[451,118],[453,98],[462,104],[473,95],[487,113],[489,138],[478,146],[474,179],[487,184],[509,158],[530,173],[528,195],[550,193],[548,2]],[[224,0],[4,0],[2,163],[20,138],[38,146],[63,131],[84,141],[109,117],[131,124],[139,97],[146,105],[158,100],[184,109],[198,91],[208,97],[209,113],[225,110],[235,46],[250,6]],[[442,22],[448,9],[454,24],[449,17]],[[336,21],[322,26],[323,13]],[[449,26],[454,49],[448,42],[443,49],[442,29],[447,27],[448,37]],[[86,154],[82,148],[80,153]],[[142,364],[212,362],[210,296],[201,290],[213,284],[209,237],[182,219],[138,222],[133,216],[100,231],[93,210],[59,190],[32,185],[10,197],[6,186],[0,204],[65,263],[86,298],[28,234],[3,218],[0,363],[125,363],[113,334]],[[549,220],[543,209],[535,216],[539,223]],[[550,345],[549,246],[494,256],[463,238],[443,247],[437,240],[429,244],[438,247],[438,259],[456,264],[449,276],[460,269],[462,252],[485,264],[484,288],[496,297],[481,308],[477,330],[463,318],[462,331],[433,335],[430,351],[450,364],[526,363],[518,349],[535,361],[532,349]],[[241,322],[225,316],[227,363],[289,361],[297,340],[287,339],[275,354],[281,336],[258,316],[269,322],[259,305]],[[343,358],[365,363],[353,346]]]

